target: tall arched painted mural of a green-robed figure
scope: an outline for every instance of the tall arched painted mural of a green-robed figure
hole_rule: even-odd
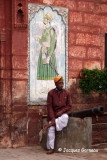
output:
[[[28,11],[28,103],[44,105],[55,76],[67,84],[68,9],[29,3]]]

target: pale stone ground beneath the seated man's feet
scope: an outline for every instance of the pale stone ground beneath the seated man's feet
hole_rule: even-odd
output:
[[[93,150],[64,150],[63,153],[47,155],[40,146],[21,147],[17,149],[0,149],[0,160],[107,160],[107,148]],[[69,151],[69,153],[68,153]],[[72,151],[72,152],[71,152]],[[97,152],[98,151],[98,152]]]

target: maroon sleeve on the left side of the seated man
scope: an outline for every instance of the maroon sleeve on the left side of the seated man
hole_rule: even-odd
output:
[[[48,111],[48,117],[52,120],[55,118],[55,114],[52,107],[52,95],[48,93],[47,97],[47,111]]]

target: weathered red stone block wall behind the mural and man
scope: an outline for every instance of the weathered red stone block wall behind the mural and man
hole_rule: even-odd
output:
[[[107,0],[1,0],[0,147],[39,144],[38,132],[42,127],[42,115],[46,114],[46,106],[27,105],[29,2],[69,8],[68,79],[73,110],[106,103],[103,95],[84,96],[78,88],[78,79],[84,67],[104,68]],[[23,4],[24,14],[21,24],[17,22],[19,3]],[[101,125],[97,127],[93,119],[93,143],[107,142],[107,114],[99,117],[98,122]]]

